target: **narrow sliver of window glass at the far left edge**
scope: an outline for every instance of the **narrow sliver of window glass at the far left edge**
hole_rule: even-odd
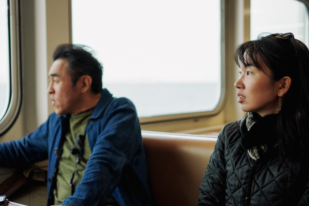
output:
[[[0,1],[0,120],[6,113],[9,104],[9,30],[7,1]]]

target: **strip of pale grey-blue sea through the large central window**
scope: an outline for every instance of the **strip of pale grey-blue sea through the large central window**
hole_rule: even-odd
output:
[[[104,84],[114,97],[130,99],[139,117],[213,110],[220,99],[219,83]]]

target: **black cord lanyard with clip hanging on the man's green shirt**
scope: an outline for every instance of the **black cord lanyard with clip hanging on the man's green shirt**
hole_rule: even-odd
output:
[[[74,175],[75,175],[77,164],[78,164],[79,159],[80,159],[80,157],[82,155],[82,152],[83,152],[83,143],[84,143],[85,138],[86,138],[86,129],[87,129],[87,126],[88,126],[89,122],[90,122],[90,119],[88,120],[88,122],[86,124],[86,127],[84,129],[83,135],[78,135],[76,137],[76,140],[75,140],[75,145],[70,148],[71,149],[71,154],[73,154],[73,155],[78,154],[77,158],[76,158],[76,163],[75,163],[74,171],[73,171],[72,177],[70,179],[71,195],[73,195],[73,193],[74,193],[73,192],[73,179],[74,179]],[[76,145],[79,146],[79,149],[76,148]]]

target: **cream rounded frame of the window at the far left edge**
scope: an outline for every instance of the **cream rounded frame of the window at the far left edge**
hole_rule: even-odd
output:
[[[15,123],[22,102],[21,79],[21,33],[20,33],[20,1],[8,0],[9,22],[9,79],[10,97],[6,113],[0,120],[0,136]]]

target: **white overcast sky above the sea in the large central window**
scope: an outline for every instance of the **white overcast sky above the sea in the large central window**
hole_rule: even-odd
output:
[[[72,0],[73,42],[92,47],[104,83],[218,82],[220,1]]]

